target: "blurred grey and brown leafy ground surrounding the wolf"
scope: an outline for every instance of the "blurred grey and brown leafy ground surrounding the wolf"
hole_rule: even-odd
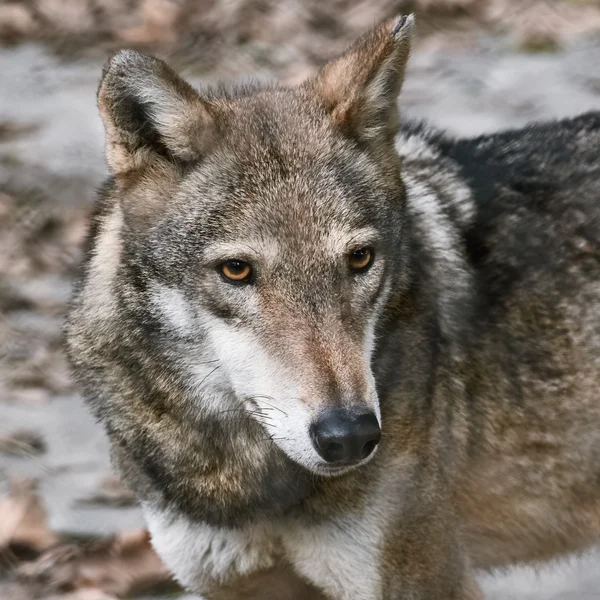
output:
[[[192,83],[295,83],[406,12],[418,34],[407,118],[475,135],[600,109],[600,0],[0,0],[0,600],[182,593],[61,350],[106,175],[106,56],[158,54]],[[599,600],[600,554],[482,580],[491,600]]]

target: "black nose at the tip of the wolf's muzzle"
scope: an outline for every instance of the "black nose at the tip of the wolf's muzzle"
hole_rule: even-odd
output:
[[[356,412],[347,408],[321,413],[310,432],[317,452],[330,463],[367,458],[381,439],[381,429],[372,412]]]

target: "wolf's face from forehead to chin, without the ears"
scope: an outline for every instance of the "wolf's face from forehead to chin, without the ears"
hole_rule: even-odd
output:
[[[154,280],[151,301],[174,331],[203,339],[201,363],[217,361],[192,365],[196,378],[218,365],[214,379],[290,458],[329,472],[379,441],[370,361],[401,193],[377,185],[367,154],[327,131],[298,132],[288,114],[234,135],[185,176],[152,230],[151,260],[157,270],[173,265]],[[328,447],[323,419],[360,439]]]

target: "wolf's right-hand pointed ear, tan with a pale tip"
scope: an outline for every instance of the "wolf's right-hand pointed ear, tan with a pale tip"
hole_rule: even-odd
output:
[[[367,143],[393,139],[413,29],[413,15],[385,21],[308,82],[346,134]]]

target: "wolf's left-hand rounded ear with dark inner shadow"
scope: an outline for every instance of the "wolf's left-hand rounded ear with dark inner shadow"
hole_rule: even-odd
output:
[[[113,173],[158,156],[199,158],[215,130],[208,102],[163,61],[133,50],[121,50],[104,67],[98,107]]]

